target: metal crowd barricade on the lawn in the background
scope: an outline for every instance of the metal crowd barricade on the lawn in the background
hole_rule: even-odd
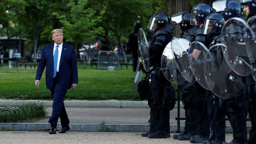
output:
[[[108,69],[109,67],[119,68],[119,54],[114,51],[99,51],[98,68]]]

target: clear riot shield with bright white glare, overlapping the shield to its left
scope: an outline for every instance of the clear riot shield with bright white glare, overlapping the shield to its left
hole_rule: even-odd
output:
[[[184,38],[174,37],[171,42],[173,58],[179,72],[187,81],[192,82],[194,78],[188,61],[188,48],[190,41]]]

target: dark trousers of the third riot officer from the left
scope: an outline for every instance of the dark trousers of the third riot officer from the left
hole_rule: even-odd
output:
[[[210,135],[210,123],[208,118],[207,111],[207,102],[206,102],[206,90],[202,88],[199,83],[196,82],[196,89],[201,100],[200,105],[198,107],[199,114],[199,128],[198,135],[202,135],[203,137],[209,137]]]

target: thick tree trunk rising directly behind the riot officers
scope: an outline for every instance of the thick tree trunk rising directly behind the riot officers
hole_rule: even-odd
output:
[[[166,11],[170,15],[175,15],[176,13],[180,13],[183,11],[187,11],[191,13],[191,5],[189,0],[167,0],[166,1]],[[180,28],[179,25],[173,25],[175,29],[173,30],[173,36],[180,37]]]

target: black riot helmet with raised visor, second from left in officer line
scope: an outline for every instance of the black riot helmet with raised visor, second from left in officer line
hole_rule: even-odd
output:
[[[190,25],[190,18],[191,14],[186,11],[183,11],[175,15],[172,15],[171,20],[173,25],[179,23],[181,31],[186,32],[193,27]]]

